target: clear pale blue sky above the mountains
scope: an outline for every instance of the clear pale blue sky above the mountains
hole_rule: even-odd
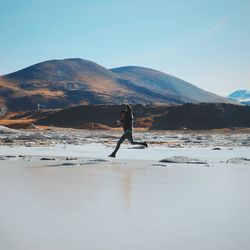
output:
[[[0,0],[0,75],[51,59],[250,89],[250,0]]]

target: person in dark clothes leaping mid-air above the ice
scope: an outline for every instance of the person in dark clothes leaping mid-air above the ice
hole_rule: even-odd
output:
[[[121,138],[119,139],[119,141],[117,142],[116,148],[114,150],[114,152],[109,155],[109,157],[115,157],[117,151],[120,148],[120,145],[127,139],[129,140],[129,142],[133,145],[142,145],[144,147],[148,147],[148,144],[146,142],[137,142],[134,141],[133,139],[133,112],[132,112],[132,108],[129,104],[126,104],[126,110],[122,110],[120,112],[120,116],[121,116],[121,120],[119,121],[120,124],[122,124],[123,127],[123,135],[121,136]]]

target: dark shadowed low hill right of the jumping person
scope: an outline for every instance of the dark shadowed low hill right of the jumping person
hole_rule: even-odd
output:
[[[234,104],[185,104],[172,106],[155,117],[152,129],[249,128],[250,107]]]

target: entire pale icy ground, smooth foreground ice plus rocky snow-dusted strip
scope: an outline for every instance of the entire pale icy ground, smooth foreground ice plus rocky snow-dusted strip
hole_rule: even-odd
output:
[[[249,249],[249,134],[119,135],[0,127],[1,249]]]

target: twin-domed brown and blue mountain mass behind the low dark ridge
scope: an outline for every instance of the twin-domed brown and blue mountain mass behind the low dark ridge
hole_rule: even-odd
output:
[[[142,67],[106,69],[73,58],[41,62],[0,77],[0,105],[11,111],[82,104],[230,102],[174,76]]]

